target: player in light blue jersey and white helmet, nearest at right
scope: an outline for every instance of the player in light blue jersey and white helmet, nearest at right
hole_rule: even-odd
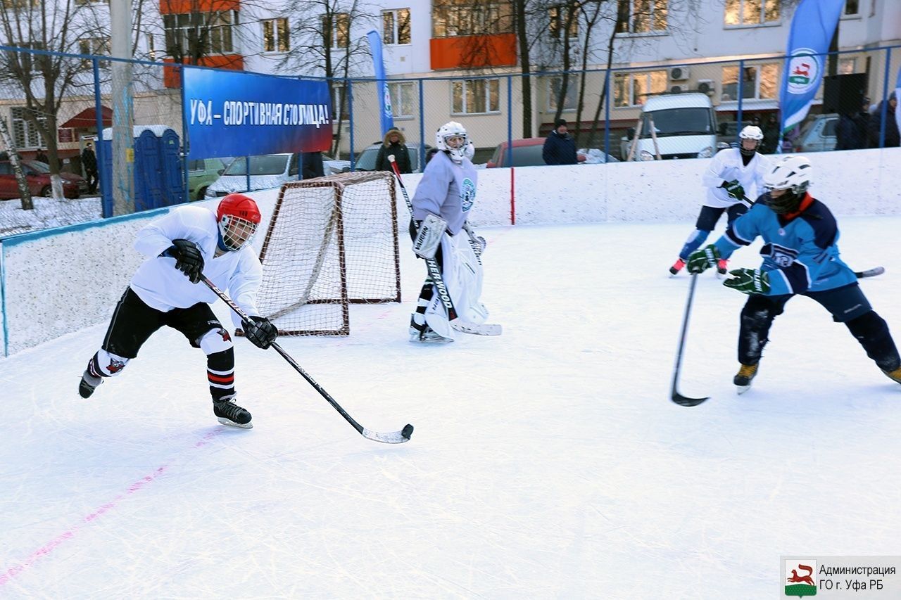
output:
[[[730,271],[732,277],[723,283],[749,295],[742,309],[738,341],[742,366],[733,380],[740,394],[751,387],[751,379],[757,375],[773,319],[797,294],[823,305],[835,322],[848,327],[878,368],[901,383],[901,358],[888,325],[869,305],[854,271],[839,258],[835,217],[807,193],[812,171],[803,156],[779,160],[763,179],[769,192],[719,240],[688,257],[688,271],[701,273],[758,236],[765,242],[760,249],[760,268]]]

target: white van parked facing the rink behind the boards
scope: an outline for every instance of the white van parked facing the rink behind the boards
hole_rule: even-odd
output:
[[[636,131],[639,127],[630,127],[628,135],[620,141],[623,160],[629,159],[633,142],[637,146],[632,160],[709,159],[716,153],[716,114],[706,94],[664,94],[648,98],[638,124],[641,131]]]

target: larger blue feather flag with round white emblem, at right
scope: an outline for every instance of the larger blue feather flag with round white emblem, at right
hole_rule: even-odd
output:
[[[845,0],[802,0],[791,21],[779,109],[782,132],[804,121],[823,80],[824,60]]]

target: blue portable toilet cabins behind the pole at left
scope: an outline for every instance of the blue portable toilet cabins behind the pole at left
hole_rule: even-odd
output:
[[[112,205],[112,129],[103,133],[103,164],[100,189]],[[182,161],[178,134],[166,125],[134,126],[134,210],[135,212],[185,202]]]

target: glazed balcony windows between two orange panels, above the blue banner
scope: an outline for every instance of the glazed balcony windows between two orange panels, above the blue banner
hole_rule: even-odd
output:
[[[237,11],[164,14],[166,48],[169,55],[231,54],[232,27],[239,24]]]

